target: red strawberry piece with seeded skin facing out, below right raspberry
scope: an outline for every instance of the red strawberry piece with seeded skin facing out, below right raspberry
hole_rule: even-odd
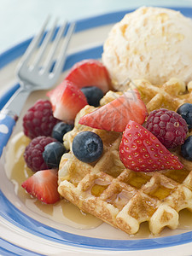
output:
[[[181,169],[182,163],[157,137],[134,121],[129,121],[119,145],[119,157],[135,172]]]

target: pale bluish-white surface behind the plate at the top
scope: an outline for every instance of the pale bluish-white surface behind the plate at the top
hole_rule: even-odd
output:
[[[192,0],[0,0],[0,53],[38,31],[47,15],[79,20],[143,5],[192,6]]]

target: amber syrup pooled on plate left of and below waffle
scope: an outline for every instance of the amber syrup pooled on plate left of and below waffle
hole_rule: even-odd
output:
[[[9,179],[15,185],[15,194],[18,195],[20,201],[39,215],[75,228],[92,229],[102,224],[102,220],[81,212],[78,207],[75,207],[72,203],[64,199],[54,205],[46,205],[26,193],[25,189],[21,187],[21,183],[33,174],[33,172],[26,167],[23,158],[24,150],[29,142],[30,140],[23,135],[23,132],[20,132],[10,140],[6,153],[5,169]]]

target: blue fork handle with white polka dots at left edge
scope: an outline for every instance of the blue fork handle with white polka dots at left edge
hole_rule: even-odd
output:
[[[7,145],[16,123],[16,118],[11,114],[0,113],[0,156]]]

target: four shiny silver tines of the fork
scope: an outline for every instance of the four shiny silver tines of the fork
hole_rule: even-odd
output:
[[[35,59],[30,63],[31,70],[40,73],[61,73],[66,60],[67,47],[73,35],[75,24],[67,24],[57,28],[57,19],[48,32],[45,31],[50,17],[44,21],[44,25],[38,32],[38,35],[32,39],[31,44],[26,50],[21,60],[21,66],[31,61],[32,55],[36,53]],[[64,37],[65,35],[65,37]],[[58,58],[55,58],[56,51],[60,51]],[[40,67],[40,68],[39,68]]]

